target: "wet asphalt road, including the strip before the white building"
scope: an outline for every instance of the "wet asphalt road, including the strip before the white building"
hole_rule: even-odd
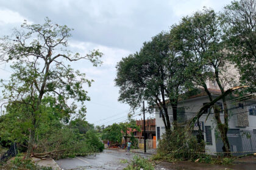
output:
[[[57,164],[62,169],[123,169],[127,166],[124,160],[131,160],[134,153],[126,155],[125,151],[122,150],[107,150],[87,157],[76,157],[76,158],[65,158],[57,160]],[[140,154],[143,157],[149,157],[148,154]],[[123,161],[122,161],[123,160]],[[234,163],[233,165],[209,165],[204,163],[194,163],[191,161],[177,161],[175,163],[160,162],[155,166],[157,170],[171,170],[171,169],[182,169],[182,170],[251,170],[256,169],[256,161]]]

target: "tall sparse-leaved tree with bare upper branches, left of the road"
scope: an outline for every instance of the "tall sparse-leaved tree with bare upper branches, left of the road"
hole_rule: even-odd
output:
[[[56,99],[60,109],[67,114],[84,117],[84,101],[90,100],[82,85],[91,81],[85,73],[74,70],[68,63],[89,60],[94,66],[101,64],[98,50],[87,55],[72,53],[66,49],[71,29],[46,18],[44,24],[21,25],[11,36],[4,36],[0,43],[1,61],[11,63],[13,73],[9,83],[3,81],[3,97],[9,104],[26,105],[30,121],[27,158],[33,151],[35,130],[43,112],[44,95]],[[76,103],[81,103],[77,109]]]

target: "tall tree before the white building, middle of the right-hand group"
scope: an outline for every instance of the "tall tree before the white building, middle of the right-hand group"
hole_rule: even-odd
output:
[[[204,88],[208,98],[212,103],[215,101],[207,86],[207,81],[215,81],[219,87],[223,101],[223,110],[215,104],[213,106],[215,120],[221,139],[224,143],[223,150],[230,151],[227,131],[229,128],[229,112],[227,109],[225,86],[232,86],[232,77],[225,77],[225,72],[230,73],[229,52],[225,49],[226,44],[222,40],[223,34],[220,27],[218,15],[209,9],[202,12],[196,12],[193,16],[182,18],[179,25],[172,28],[173,34],[176,35],[177,41],[183,44],[184,50],[190,53],[188,61],[188,70],[194,77],[194,83]],[[226,84],[225,82],[229,82]],[[229,86],[227,86],[229,85]],[[217,101],[215,101],[216,103]],[[204,107],[204,109],[207,109]],[[221,121],[221,112],[224,112],[224,122]],[[207,112],[207,110],[204,110]],[[210,112],[208,113],[210,114]],[[200,114],[201,116],[202,114]],[[199,117],[198,120],[199,120]]]

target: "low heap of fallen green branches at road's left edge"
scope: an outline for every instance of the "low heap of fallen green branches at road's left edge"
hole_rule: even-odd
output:
[[[87,131],[86,134],[80,134],[77,129],[71,129],[64,126],[62,129],[54,129],[38,141],[35,152],[49,152],[55,150],[64,150],[63,157],[71,157],[72,154],[88,155],[95,152],[101,152],[104,144],[99,139],[94,130]]]

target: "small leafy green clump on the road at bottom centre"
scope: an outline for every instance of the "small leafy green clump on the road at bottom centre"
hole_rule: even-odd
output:
[[[154,165],[152,165],[151,161],[135,155],[129,165],[124,168],[124,170],[140,170],[140,169],[147,169],[147,170],[154,170]]]

